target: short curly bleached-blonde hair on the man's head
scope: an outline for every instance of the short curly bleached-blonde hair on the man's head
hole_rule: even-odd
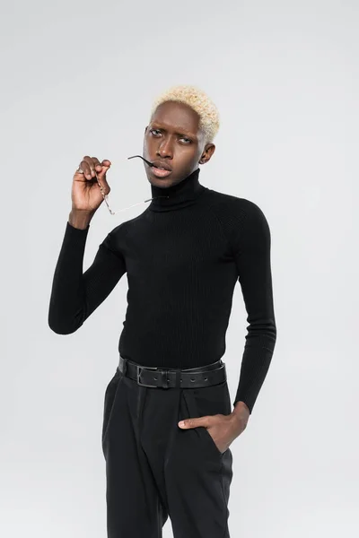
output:
[[[172,86],[153,101],[150,121],[156,108],[169,100],[185,103],[195,110],[199,115],[199,129],[205,134],[205,144],[213,143],[220,126],[220,119],[215,103],[209,99],[205,91],[188,84]]]

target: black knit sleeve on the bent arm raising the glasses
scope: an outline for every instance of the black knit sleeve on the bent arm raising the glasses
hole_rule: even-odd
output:
[[[113,231],[102,241],[92,265],[83,273],[85,230],[66,222],[48,308],[48,325],[57,334],[74,333],[109,296],[126,272],[125,259],[113,245]]]

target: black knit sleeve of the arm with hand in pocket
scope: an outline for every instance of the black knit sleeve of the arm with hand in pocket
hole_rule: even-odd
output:
[[[237,222],[232,233],[232,249],[250,325],[233,404],[244,402],[252,412],[275,349],[276,319],[267,219],[257,204],[249,200],[242,200],[241,204],[241,225]]]

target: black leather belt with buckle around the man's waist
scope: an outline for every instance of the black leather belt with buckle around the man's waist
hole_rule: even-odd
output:
[[[134,379],[138,385],[151,388],[196,388],[218,385],[227,379],[225,364],[221,359],[198,368],[163,369],[141,366],[120,355],[118,369],[124,376]]]

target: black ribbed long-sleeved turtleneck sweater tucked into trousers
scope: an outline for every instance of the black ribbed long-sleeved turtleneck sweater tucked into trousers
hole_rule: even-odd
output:
[[[144,366],[196,368],[223,357],[238,281],[249,325],[233,405],[252,412],[276,344],[270,230],[258,205],[204,187],[198,176],[151,184],[151,204],[109,232],[84,273],[90,224],[80,230],[67,221],[48,325],[74,333],[127,273],[120,354]]]

